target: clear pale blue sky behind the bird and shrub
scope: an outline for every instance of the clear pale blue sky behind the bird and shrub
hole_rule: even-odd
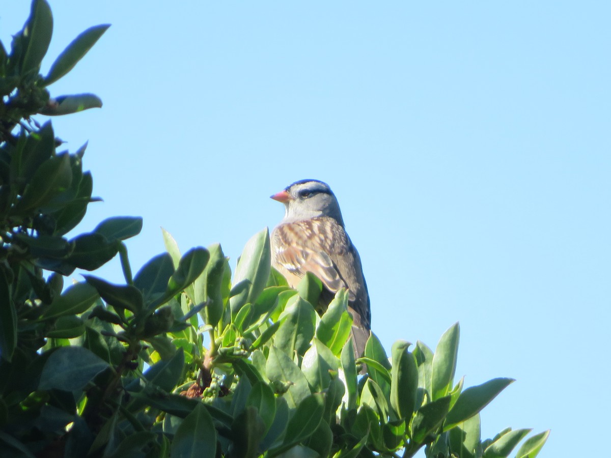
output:
[[[29,1],[6,2],[8,45]],[[52,95],[104,107],[54,118],[94,194],[80,231],[144,217],[133,269],[221,242],[232,266],[293,181],[335,191],[373,331],[436,345],[461,323],[457,376],[517,379],[483,437],[551,428],[541,457],[601,453],[611,306],[611,32],[602,1],[51,0],[43,72],[112,27]],[[44,117],[40,117],[43,120]],[[103,267],[120,280],[117,260]],[[587,434],[584,434],[587,432]]]

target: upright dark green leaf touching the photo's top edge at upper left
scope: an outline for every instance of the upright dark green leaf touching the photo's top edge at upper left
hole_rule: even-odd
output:
[[[26,46],[21,59],[21,74],[24,75],[29,71],[38,73],[40,62],[49,49],[53,34],[53,15],[51,15],[51,7],[45,0],[32,1],[30,16],[22,33]]]

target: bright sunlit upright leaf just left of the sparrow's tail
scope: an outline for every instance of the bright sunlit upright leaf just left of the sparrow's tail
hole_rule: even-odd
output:
[[[310,303],[311,304],[311,303]],[[350,335],[353,319],[348,313],[348,290],[340,289],[316,328],[316,338],[339,356]]]

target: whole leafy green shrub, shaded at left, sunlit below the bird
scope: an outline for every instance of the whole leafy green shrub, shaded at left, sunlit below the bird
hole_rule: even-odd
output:
[[[85,147],[57,151],[51,123],[31,116],[101,106],[46,87],[107,28],[79,35],[46,76],[45,0],[32,2],[10,53],[0,43],[0,455],[508,456],[530,430],[481,440],[479,412],[513,380],[455,383],[458,324],[434,353],[397,341],[389,357],[372,334],[355,360],[346,291],[318,316],[320,281],[288,288],[270,268],[267,230],[233,278],[219,244],[181,254],[166,232],[167,252],[133,275],[125,240],[137,217],[68,238],[95,200]],[[117,254],[124,284],[84,274],[65,285]],[[536,456],[548,433],[517,456]]]

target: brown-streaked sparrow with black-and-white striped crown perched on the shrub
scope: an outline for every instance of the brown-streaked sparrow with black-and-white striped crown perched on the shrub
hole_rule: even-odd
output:
[[[293,287],[305,272],[320,278],[323,308],[338,289],[348,288],[354,351],[361,356],[371,324],[369,294],[359,253],[346,234],[337,198],[329,185],[318,180],[296,181],[271,198],[285,206],[284,219],[271,234],[272,266]]]

